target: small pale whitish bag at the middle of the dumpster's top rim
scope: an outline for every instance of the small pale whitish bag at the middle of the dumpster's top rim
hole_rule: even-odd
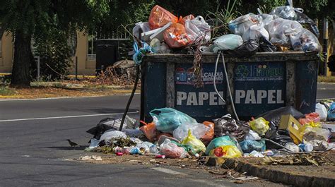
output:
[[[213,42],[219,50],[234,50],[243,44],[242,37],[240,35],[223,35],[218,37]]]

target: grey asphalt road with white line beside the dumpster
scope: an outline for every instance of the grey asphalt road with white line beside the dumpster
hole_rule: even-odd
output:
[[[335,85],[319,88],[319,99],[335,97]],[[0,101],[0,186],[237,186],[193,169],[69,161],[87,153],[69,147],[66,139],[88,145],[88,128],[121,116],[128,97]],[[139,95],[131,116],[138,118],[137,110]]]

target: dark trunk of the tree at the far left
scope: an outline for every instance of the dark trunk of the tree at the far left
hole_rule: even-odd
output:
[[[14,61],[11,73],[11,86],[30,86],[30,40],[31,36],[16,31],[14,41]]]

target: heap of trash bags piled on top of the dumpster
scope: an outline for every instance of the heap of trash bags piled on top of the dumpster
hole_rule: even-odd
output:
[[[302,8],[294,8],[290,2],[289,6],[278,6],[269,14],[262,13],[259,8],[258,12],[230,20],[228,28],[232,34],[211,38],[215,28],[202,16],[177,18],[156,5],[148,22],[136,23],[133,28],[133,59],[136,64],[141,64],[146,54],[181,52],[180,49],[191,46],[196,46],[203,53],[226,51],[237,56],[251,56],[256,52],[321,50],[317,25],[302,13]]]

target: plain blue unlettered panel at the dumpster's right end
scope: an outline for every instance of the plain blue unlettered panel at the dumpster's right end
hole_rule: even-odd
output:
[[[302,114],[315,111],[317,61],[298,61],[295,69],[295,108]]]

